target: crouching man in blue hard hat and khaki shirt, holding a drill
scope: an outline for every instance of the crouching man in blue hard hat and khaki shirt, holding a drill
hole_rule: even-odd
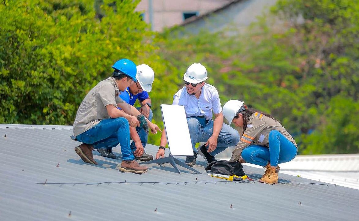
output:
[[[130,126],[148,124],[152,133],[160,131],[135,107],[118,97],[120,91],[136,81],[136,65],[128,59],[121,59],[113,66],[112,77],[98,83],[89,91],[77,111],[73,131],[76,140],[83,144],[75,147],[75,152],[85,163],[97,164],[92,150],[121,145],[123,172],[145,173],[146,166],[140,166],[134,155],[141,156],[143,148],[132,154],[130,148]],[[122,110],[117,109],[120,107]],[[140,123],[141,122],[141,123]]]

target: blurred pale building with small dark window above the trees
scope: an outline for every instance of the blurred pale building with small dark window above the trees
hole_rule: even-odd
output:
[[[213,17],[217,13],[222,22],[237,20],[248,25],[261,14],[265,6],[275,2],[276,0],[142,0],[136,11],[144,11],[143,18],[152,24],[152,30],[162,31],[165,27],[178,24],[194,21],[201,23],[203,18]]]

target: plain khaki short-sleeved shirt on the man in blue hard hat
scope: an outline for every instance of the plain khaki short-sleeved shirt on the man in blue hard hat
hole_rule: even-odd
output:
[[[86,95],[76,113],[73,126],[74,136],[89,130],[101,120],[109,118],[106,106],[112,104],[117,107],[118,103],[124,102],[118,95],[116,80],[109,77],[98,83]]]

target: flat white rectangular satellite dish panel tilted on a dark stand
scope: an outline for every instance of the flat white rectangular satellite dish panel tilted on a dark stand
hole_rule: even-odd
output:
[[[161,111],[171,155],[193,156],[185,107],[182,105],[161,104]]]

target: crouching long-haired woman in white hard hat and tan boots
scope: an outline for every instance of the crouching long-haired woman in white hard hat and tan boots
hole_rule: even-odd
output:
[[[298,146],[293,137],[272,116],[248,109],[239,100],[225,103],[223,116],[229,124],[243,128],[243,136],[230,160],[264,166],[265,173],[259,181],[278,183],[278,164],[289,162],[297,155]]]

